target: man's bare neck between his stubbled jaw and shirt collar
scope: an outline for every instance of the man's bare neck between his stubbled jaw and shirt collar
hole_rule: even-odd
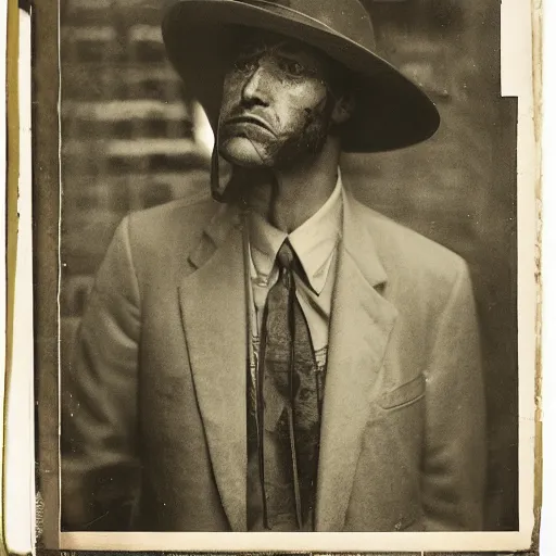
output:
[[[291,169],[251,176],[249,204],[276,228],[290,233],[311,218],[338,182],[340,148],[330,139],[315,159]]]

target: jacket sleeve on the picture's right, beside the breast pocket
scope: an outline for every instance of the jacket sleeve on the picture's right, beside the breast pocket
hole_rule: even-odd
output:
[[[426,380],[426,530],[481,530],[485,406],[475,299],[463,261],[438,320]]]

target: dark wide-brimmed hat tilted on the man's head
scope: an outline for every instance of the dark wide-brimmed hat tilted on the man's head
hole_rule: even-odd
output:
[[[400,149],[438,129],[432,101],[377,54],[370,16],[358,0],[178,0],[164,14],[164,43],[213,129],[228,56],[241,27],[302,40],[351,71],[356,111],[343,129],[344,151]]]

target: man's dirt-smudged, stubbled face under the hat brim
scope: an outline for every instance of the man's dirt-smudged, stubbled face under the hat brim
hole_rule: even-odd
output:
[[[331,62],[301,42],[254,34],[224,83],[218,148],[233,165],[293,166],[327,139],[334,100]]]

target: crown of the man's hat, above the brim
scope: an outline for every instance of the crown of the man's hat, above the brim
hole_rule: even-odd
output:
[[[375,31],[370,15],[359,0],[233,0],[265,8],[301,20],[312,20],[352,41],[375,50]]]

